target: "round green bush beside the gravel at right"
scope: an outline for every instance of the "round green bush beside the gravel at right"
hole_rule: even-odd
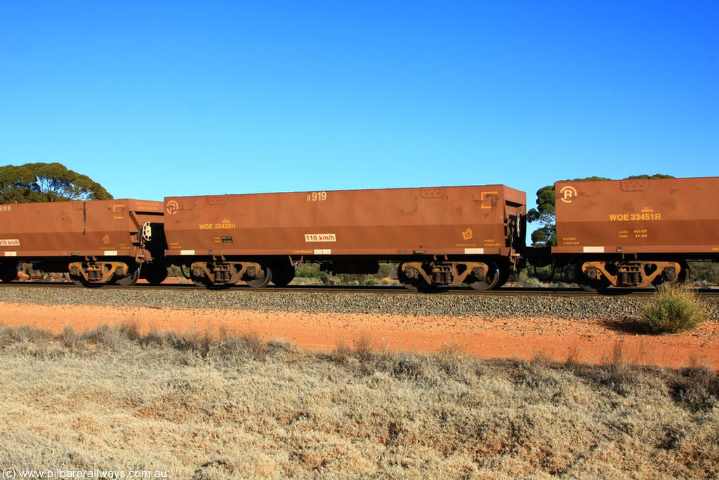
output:
[[[642,325],[647,332],[655,334],[691,330],[708,317],[695,292],[681,286],[667,286],[657,291],[642,313]]]

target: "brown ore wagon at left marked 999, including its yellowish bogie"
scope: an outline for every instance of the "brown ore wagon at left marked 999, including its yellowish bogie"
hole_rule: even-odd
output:
[[[163,204],[135,199],[5,204],[1,207],[0,279],[19,263],[68,273],[86,286],[159,284],[167,276]]]

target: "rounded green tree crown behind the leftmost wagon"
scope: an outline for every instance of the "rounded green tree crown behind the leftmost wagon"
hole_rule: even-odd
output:
[[[61,163],[26,163],[0,167],[0,203],[104,200],[103,186]]]

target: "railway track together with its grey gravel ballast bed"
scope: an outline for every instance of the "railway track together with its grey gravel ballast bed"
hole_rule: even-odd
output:
[[[497,291],[451,289],[433,294],[400,286],[288,286],[251,289],[235,286],[209,290],[191,284],[104,286],[17,282],[0,286],[0,302],[8,304],[74,304],[115,307],[98,321],[112,322],[135,307],[211,309],[221,319],[232,311],[304,312],[305,314],[402,315],[449,318],[636,318],[652,291],[592,294],[580,289],[503,288]],[[719,289],[700,293],[710,318],[719,320]],[[92,313],[88,313],[91,314]],[[108,316],[109,315],[109,316]]]

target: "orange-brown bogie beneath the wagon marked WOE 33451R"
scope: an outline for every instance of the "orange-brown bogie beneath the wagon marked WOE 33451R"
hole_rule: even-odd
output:
[[[582,273],[590,282],[615,287],[646,288],[686,279],[682,264],[667,261],[589,261]]]

